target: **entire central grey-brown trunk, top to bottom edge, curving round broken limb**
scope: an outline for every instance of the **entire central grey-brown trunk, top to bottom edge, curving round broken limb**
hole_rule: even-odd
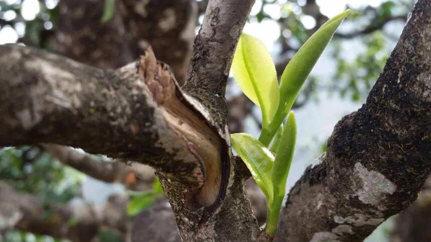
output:
[[[245,192],[239,160],[232,159],[227,107],[226,82],[233,53],[253,0],[210,0],[194,45],[184,91],[202,103],[206,120],[222,138],[221,186],[217,200],[188,219],[175,216],[184,241],[253,241],[259,228]],[[164,187],[173,211],[183,209],[172,202],[176,191]],[[196,224],[197,227],[196,228]]]

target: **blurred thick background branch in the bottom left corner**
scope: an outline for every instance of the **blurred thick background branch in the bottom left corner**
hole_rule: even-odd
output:
[[[127,199],[119,196],[110,197],[102,205],[81,200],[47,203],[0,182],[0,231],[15,227],[72,241],[90,241],[101,226],[126,233],[130,226],[126,205]]]

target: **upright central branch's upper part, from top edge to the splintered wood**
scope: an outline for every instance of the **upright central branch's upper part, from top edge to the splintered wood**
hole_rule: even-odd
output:
[[[210,0],[197,34],[183,89],[200,100],[227,137],[226,84],[238,39],[254,0]]]

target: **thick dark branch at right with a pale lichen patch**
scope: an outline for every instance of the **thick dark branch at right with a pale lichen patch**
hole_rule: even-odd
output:
[[[367,102],[291,189],[277,241],[362,241],[416,199],[431,160],[430,29],[418,0]]]

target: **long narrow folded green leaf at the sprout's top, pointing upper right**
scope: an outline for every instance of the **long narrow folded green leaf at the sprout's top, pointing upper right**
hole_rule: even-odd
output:
[[[349,12],[347,9],[323,24],[287,64],[280,85],[280,104],[286,103],[286,112],[289,112],[308,74]]]

